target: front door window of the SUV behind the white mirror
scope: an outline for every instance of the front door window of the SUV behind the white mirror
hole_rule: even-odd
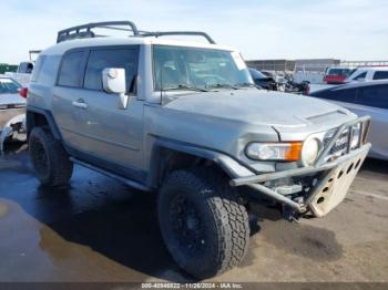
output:
[[[102,71],[106,68],[125,69],[126,92],[135,92],[139,46],[92,50],[88,60],[83,87],[102,91]]]

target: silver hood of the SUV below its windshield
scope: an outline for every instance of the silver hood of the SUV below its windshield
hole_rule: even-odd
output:
[[[278,131],[319,124],[339,125],[355,117],[348,110],[325,101],[256,89],[192,93],[181,95],[165,106],[207,116],[268,125]]]

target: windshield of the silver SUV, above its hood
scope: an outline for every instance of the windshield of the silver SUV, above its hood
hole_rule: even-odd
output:
[[[252,85],[238,52],[213,49],[153,46],[154,89],[207,90]]]

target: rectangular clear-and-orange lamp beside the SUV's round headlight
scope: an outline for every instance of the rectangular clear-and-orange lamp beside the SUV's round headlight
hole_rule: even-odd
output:
[[[287,160],[295,162],[300,158],[302,142],[289,143],[251,143],[245,154],[256,160]]]

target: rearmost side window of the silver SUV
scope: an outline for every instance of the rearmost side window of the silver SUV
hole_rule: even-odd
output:
[[[64,54],[59,72],[58,84],[63,86],[80,87],[83,68],[83,51]]]

